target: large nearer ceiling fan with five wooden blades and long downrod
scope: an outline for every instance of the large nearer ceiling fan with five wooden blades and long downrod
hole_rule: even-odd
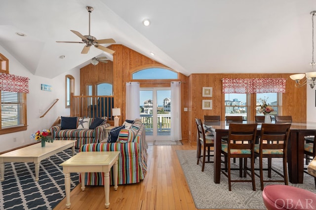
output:
[[[90,13],[93,11],[93,7],[91,6],[86,6],[85,7],[88,12],[89,12],[89,35],[81,35],[79,32],[70,30],[73,32],[75,35],[78,35],[82,41],[56,41],[58,43],[85,43],[85,46],[83,47],[81,53],[82,54],[87,54],[89,52],[90,47],[93,45],[94,47],[103,50],[107,53],[113,54],[115,53],[114,50],[111,50],[107,47],[104,47],[100,44],[112,44],[116,43],[113,38],[107,38],[107,39],[97,39],[96,37],[90,35]]]

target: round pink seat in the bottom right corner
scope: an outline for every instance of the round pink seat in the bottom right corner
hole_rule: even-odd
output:
[[[316,210],[316,194],[288,185],[268,185],[262,191],[268,210]]]

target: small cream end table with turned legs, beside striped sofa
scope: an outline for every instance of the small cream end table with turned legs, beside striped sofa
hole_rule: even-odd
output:
[[[84,191],[85,172],[104,173],[105,207],[110,206],[110,170],[113,166],[114,189],[118,189],[118,151],[115,152],[79,152],[60,164],[65,174],[66,207],[70,208],[70,173],[80,173],[81,190]]]

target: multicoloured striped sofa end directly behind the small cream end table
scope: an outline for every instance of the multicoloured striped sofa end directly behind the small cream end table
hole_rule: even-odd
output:
[[[120,130],[116,142],[84,144],[79,152],[119,151],[118,184],[137,183],[145,178],[147,172],[148,145],[145,138],[145,126],[136,119],[131,127]],[[113,185],[112,169],[110,181]],[[84,182],[85,185],[104,185],[104,173],[85,173]]]

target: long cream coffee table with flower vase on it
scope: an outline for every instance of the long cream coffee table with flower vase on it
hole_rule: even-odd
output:
[[[48,158],[58,152],[72,147],[73,156],[75,153],[75,144],[77,140],[54,140],[52,143],[46,143],[41,147],[41,143],[32,144],[20,149],[6,152],[0,155],[0,174],[1,181],[4,180],[4,163],[7,162],[33,162],[35,164],[35,181],[39,180],[40,161]]]

